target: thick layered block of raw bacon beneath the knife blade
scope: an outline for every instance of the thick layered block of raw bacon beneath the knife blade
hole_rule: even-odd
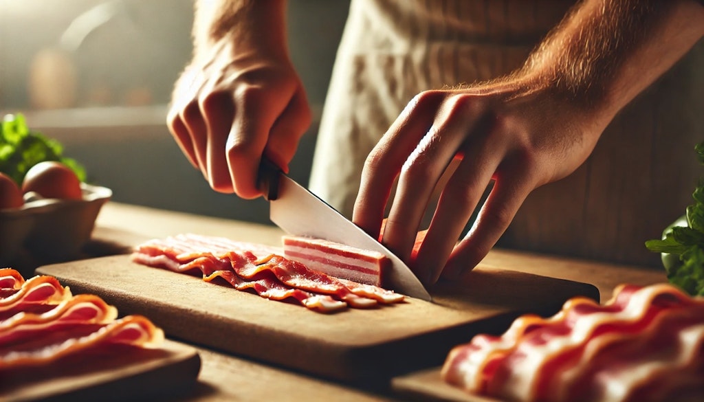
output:
[[[376,251],[311,237],[284,236],[282,240],[285,258],[354,282],[381,286],[383,272],[389,265],[389,258]]]

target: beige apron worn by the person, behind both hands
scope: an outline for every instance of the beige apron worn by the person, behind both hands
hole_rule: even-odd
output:
[[[351,216],[367,154],[418,92],[524,62],[572,1],[352,0],[310,189]],[[658,265],[643,242],[684,213],[702,169],[704,44],[625,108],[592,156],[536,189],[499,246]]]

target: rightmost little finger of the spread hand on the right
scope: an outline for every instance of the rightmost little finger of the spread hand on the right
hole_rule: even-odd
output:
[[[451,253],[442,276],[458,279],[489,253],[534,188],[533,183],[524,171],[513,170],[510,174],[497,172],[494,188],[479,211],[477,221]]]

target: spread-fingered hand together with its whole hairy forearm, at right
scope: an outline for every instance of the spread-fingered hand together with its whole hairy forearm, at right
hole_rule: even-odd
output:
[[[398,177],[384,244],[427,284],[472,270],[529,192],[581,165],[613,116],[702,37],[696,1],[580,2],[513,75],[416,96],[367,158],[354,222],[377,237]],[[412,259],[429,197],[454,158]],[[492,180],[477,221],[455,245]]]

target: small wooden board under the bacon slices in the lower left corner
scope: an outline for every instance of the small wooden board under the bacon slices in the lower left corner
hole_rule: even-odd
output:
[[[128,401],[173,396],[195,384],[200,367],[196,350],[174,341],[154,349],[115,345],[38,368],[0,372],[0,401]]]

